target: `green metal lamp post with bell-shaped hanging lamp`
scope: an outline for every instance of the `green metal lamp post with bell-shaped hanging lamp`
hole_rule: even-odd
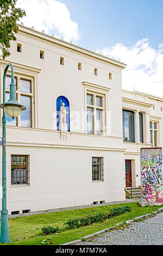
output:
[[[5,102],[5,78],[7,75],[8,68],[11,67],[11,84],[10,84],[10,99]],[[8,224],[8,210],[7,210],[7,175],[6,175],[6,116],[18,117],[22,110],[26,107],[22,106],[16,100],[16,85],[14,84],[14,68],[9,63],[4,70],[3,74],[3,103],[0,105],[3,108],[2,127],[3,127],[3,148],[2,148],[2,211],[1,211],[1,243],[11,242],[9,235],[9,224]]]

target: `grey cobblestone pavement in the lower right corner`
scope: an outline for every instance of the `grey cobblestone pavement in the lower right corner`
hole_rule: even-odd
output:
[[[111,230],[76,245],[163,245],[163,212],[131,223],[126,229]]]

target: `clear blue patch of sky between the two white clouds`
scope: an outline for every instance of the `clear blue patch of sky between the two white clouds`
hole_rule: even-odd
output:
[[[78,23],[80,43],[90,48],[118,42],[133,45],[149,38],[152,47],[163,42],[162,0],[61,0]]]

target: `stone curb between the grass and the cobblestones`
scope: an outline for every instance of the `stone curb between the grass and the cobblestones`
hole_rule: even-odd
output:
[[[152,214],[160,214],[161,211],[163,211],[163,207],[160,208],[160,209],[158,209],[157,211],[152,212]],[[146,215],[141,215],[141,216],[139,216],[139,217],[135,217],[133,220],[126,221],[126,223],[136,222],[137,220],[141,220],[141,219],[143,219],[143,218],[151,217],[152,214],[146,214]],[[121,224],[123,224],[123,223],[124,223],[124,222],[120,222],[120,223],[118,223],[118,224],[116,224],[116,225],[114,225],[114,226],[112,226],[112,227],[110,227],[110,228],[105,228],[105,229],[102,229],[102,230],[100,230],[100,231],[97,231],[97,232],[95,232],[95,233],[93,233],[93,234],[91,234],[91,235],[83,236],[82,239],[87,240],[87,239],[89,239],[89,238],[91,238],[91,237],[93,237],[93,236],[95,236],[95,235],[99,235],[99,234],[104,233],[105,231],[109,231],[110,229],[115,228],[115,227],[117,227],[118,225],[121,225]],[[73,245],[74,243],[83,242],[82,239],[74,240],[74,241],[67,242],[67,243],[62,243],[62,245]]]

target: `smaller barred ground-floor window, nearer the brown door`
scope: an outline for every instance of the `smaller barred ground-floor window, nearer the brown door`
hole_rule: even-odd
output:
[[[103,157],[92,157],[92,180],[104,180]]]

